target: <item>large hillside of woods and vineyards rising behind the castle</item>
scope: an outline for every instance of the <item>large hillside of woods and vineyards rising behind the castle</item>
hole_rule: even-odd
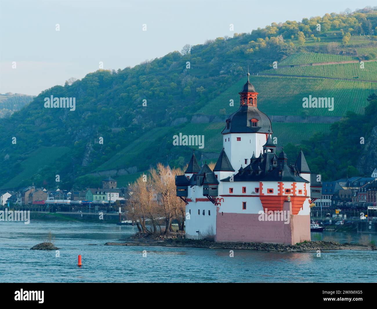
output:
[[[185,46],[181,52],[133,68],[98,70],[82,80],[70,79],[64,86],[46,89],[26,108],[0,121],[0,187],[19,188],[32,181],[48,188],[97,187],[105,175],[126,185],[158,161],[183,166],[192,148],[173,146],[173,135],[179,132],[205,135],[204,149],[194,148],[199,157],[216,160],[225,117],[238,108],[237,93],[248,66],[260,93],[259,108],[276,119],[294,116],[274,124],[279,145],[299,143],[327,130],[331,117],[339,119],[348,108],[361,114],[376,84],[357,81],[359,76],[355,81],[322,79],[333,72],[327,69],[322,75],[310,72],[313,78],[267,76],[263,71],[272,69],[274,61],[294,65],[335,59],[358,66],[359,60],[370,60],[366,69],[371,73],[365,78],[369,80],[374,78],[368,63],[376,57],[376,27],[377,12],[371,8],[273,23],[250,33],[231,32],[231,38]],[[352,70],[343,71],[354,75]],[[302,98],[313,92],[331,94],[345,104],[337,105],[333,114],[303,111]],[[44,108],[44,99],[51,95],[75,98],[75,110]],[[322,116],[328,117],[323,124]],[[305,128],[306,135],[297,135],[297,128]],[[55,175],[60,175],[59,183]]]

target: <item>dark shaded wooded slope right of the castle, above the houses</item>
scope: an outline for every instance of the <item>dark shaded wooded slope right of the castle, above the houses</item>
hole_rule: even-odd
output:
[[[329,132],[317,133],[308,141],[302,141],[301,147],[311,172],[321,174],[323,180],[370,177],[375,167],[357,169],[360,158],[375,151],[366,145],[375,145],[371,133],[377,123],[377,96],[371,94],[368,100],[365,114],[347,112],[345,117],[331,125]],[[297,146],[288,144],[284,148],[288,158],[298,154]]]

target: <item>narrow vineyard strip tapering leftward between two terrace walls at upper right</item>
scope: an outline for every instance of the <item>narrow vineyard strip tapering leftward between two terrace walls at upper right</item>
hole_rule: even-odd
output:
[[[326,76],[336,78],[352,78],[364,80],[377,80],[377,61],[368,61],[364,63],[364,68],[360,68],[359,63],[345,63],[335,65],[316,65],[303,66],[295,68],[282,68],[265,71],[275,74],[290,75],[310,75],[310,76]]]

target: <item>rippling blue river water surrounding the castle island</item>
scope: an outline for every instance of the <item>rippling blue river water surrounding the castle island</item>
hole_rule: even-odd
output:
[[[49,231],[61,248],[59,257],[55,251],[29,250]],[[0,221],[0,282],[377,281],[377,251],[322,251],[317,257],[317,252],[234,250],[230,257],[227,249],[104,246],[136,231],[116,224]],[[312,238],[377,243],[377,235],[369,234],[323,232]]]

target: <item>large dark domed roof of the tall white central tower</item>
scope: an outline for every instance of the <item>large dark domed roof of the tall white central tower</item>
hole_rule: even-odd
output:
[[[251,126],[251,119],[258,120],[258,126]],[[271,120],[266,114],[259,111],[256,106],[251,105],[241,105],[238,111],[231,114],[227,123],[229,123],[229,129],[225,125],[222,134],[227,133],[268,133],[268,130],[271,128]],[[272,130],[270,133],[273,133]]]

